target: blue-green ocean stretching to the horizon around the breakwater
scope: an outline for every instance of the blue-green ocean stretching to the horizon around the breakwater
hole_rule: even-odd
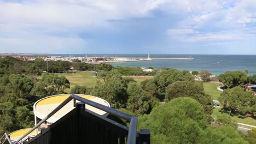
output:
[[[83,57],[75,54],[56,54],[47,56],[74,56]],[[147,54],[88,54],[88,57],[148,57]],[[113,66],[126,67],[154,67],[175,68],[179,70],[209,70],[214,75],[225,73],[225,71],[249,70],[249,75],[256,74],[256,56],[255,55],[169,55],[169,54],[150,54],[150,57],[173,57],[173,58],[194,58],[194,60],[179,59],[154,59],[153,61],[120,62],[111,63]]]

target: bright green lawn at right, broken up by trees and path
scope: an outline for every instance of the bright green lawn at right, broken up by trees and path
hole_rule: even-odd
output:
[[[212,83],[212,82],[203,83],[203,88],[205,89],[205,92],[212,95],[213,99],[215,100],[218,100],[218,98],[220,97],[220,93],[222,93],[217,89],[218,86],[219,86],[218,83]],[[217,115],[221,115],[221,114],[222,114],[222,110],[220,108],[214,108],[212,117],[216,118]],[[256,119],[252,117],[239,118],[238,116],[232,116],[231,118],[238,123],[256,125]]]

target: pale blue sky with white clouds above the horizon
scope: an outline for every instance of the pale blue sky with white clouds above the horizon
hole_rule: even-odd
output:
[[[256,1],[0,0],[0,52],[256,55]]]

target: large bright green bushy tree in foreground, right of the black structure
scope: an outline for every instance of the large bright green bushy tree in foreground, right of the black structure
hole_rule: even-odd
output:
[[[203,107],[192,98],[176,98],[138,117],[139,129],[150,129],[152,143],[243,143],[232,127],[211,127]]]

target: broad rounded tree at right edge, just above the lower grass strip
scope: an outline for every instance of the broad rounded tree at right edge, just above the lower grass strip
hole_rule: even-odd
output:
[[[253,92],[245,91],[241,87],[234,87],[226,89],[220,94],[220,103],[223,104],[224,109],[230,110],[231,113],[240,113],[246,115],[247,113],[256,112],[256,97]]]

